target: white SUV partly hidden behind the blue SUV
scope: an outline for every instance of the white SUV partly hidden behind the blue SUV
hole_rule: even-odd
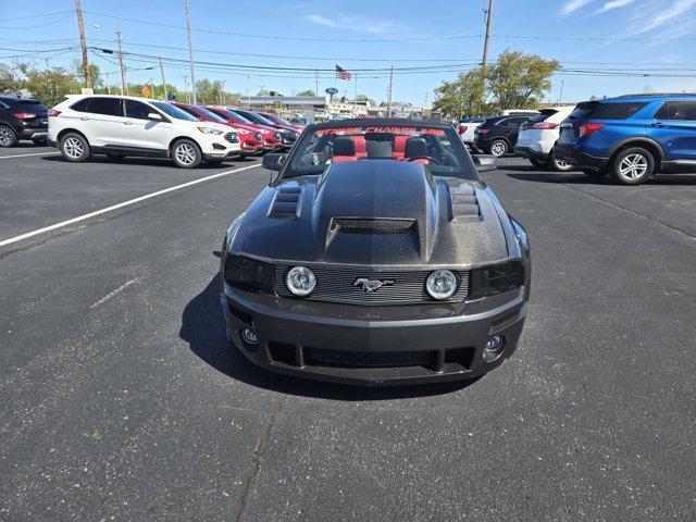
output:
[[[523,123],[518,135],[514,151],[529,158],[538,169],[551,169],[566,172],[573,166],[554,157],[554,146],[560,134],[560,124],[570,116],[574,107],[554,107],[542,109],[538,115]]]

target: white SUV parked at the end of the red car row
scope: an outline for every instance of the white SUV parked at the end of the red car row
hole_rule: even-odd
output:
[[[194,169],[239,154],[239,136],[226,125],[200,122],[164,101],[129,96],[70,96],[48,112],[48,139],[67,161],[92,153],[172,158]]]

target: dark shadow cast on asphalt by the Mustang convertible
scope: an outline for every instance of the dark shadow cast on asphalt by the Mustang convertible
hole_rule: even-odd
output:
[[[418,386],[362,387],[276,374],[256,366],[232,346],[220,307],[220,274],[184,308],[179,337],[190,350],[219,372],[259,388],[333,400],[388,400],[458,391],[475,381]]]

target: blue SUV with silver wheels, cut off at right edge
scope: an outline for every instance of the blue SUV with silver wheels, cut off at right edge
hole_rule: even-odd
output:
[[[696,172],[696,96],[630,95],[579,103],[561,124],[557,158],[588,176],[639,185],[658,172]]]

